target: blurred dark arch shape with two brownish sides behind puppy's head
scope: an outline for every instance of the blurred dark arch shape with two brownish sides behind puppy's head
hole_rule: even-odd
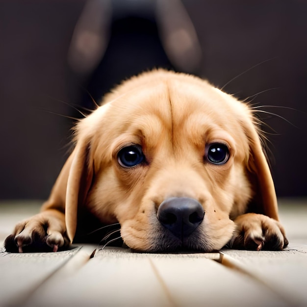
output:
[[[96,101],[117,82],[155,67],[198,75],[202,60],[180,0],[88,0],[68,55]],[[92,104],[89,95],[84,101]]]

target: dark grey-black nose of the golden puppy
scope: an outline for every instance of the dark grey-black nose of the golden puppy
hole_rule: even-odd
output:
[[[165,200],[157,212],[159,222],[179,238],[191,234],[202,223],[204,215],[202,205],[186,197]]]

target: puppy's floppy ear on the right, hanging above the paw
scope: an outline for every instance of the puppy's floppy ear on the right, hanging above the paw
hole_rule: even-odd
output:
[[[253,207],[253,212],[265,214],[279,221],[274,182],[261,146],[260,137],[252,122],[245,127],[250,146],[247,168],[256,190],[254,203],[252,204],[255,206]]]

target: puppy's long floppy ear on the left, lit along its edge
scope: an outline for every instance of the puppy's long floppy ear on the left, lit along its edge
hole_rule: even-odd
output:
[[[77,229],[78,205],[84,203],[93,180],[89,149],[89,142],[80,139],[70,156],[72,160],[66,188],[65,223],[71,242],[73,242]]]

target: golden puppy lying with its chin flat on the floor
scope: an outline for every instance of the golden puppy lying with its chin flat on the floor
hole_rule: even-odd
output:
[[[77,124],[49,200],[5,246],[57,251],[91,216],[118,222],[142,252],[281,250],[288,242],[258,132],[247,104],[204,80],[133,77]]]

